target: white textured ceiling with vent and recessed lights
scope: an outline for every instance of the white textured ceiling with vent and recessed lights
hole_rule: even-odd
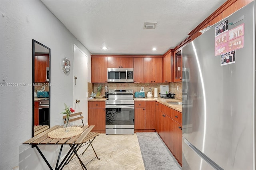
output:
[[[226,0],[41,0],[92,54],[162,55]],[[144,30],[144,22],[157,22]],[[101,49],[106,45],[107,50]],[[156,51],[152,48],[156,47]]]

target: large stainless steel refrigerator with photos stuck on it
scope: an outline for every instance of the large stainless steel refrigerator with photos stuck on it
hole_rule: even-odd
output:
[[[183,170],[255,170],[254,3],[182,49]]]

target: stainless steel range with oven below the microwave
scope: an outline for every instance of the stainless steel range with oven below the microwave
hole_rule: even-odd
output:
[[[108,91],[106,134],[134,134],[133,90]]]

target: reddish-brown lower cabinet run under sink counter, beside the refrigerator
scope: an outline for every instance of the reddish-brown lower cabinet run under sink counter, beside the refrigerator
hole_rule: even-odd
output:
[[[182,113],[158,103],[158,134],[182,165]]]

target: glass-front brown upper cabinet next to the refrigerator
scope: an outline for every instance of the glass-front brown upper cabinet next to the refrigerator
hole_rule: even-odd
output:
[[[182,47],[174,51],[174,82],[182,81]]]

